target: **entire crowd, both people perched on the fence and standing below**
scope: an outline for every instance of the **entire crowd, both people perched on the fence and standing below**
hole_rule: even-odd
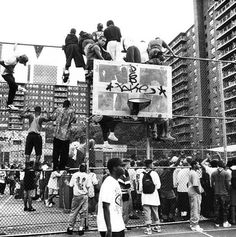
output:
[[[163,48],[174,52],[159,37],[148,44],[148,60],[143,62],[140,51],[133,43],[121,41],[119,27],[112,20],[107,22],[103,31],[101,23],[92,34],[81,31],[79,38],[76,29],[72,28],[65,39],[63,50],[66,64],[63,72],[63,82],[69,80],[69,69],[74,59],[76,67],[83,67],[87,80],[92,80],[94,59],[121,60],[123,46],[126,62],[160,65],[164,61]],[[84,60],[86,57],[86,63]],[[11,60],[1,60],[5,70],[2,74],[9,85],[7,106],[17,110],[13,100],[17,90],[25,91],[17,86],[13,76],[17,63],[26,65],[28,57],[21,55]],[[4,195],[6,184],[10,195],[24,200],[24,211],[35,211],[33,199],[44,201],[46,207],[55,205],[54,198],[60,189],[60,179],[68,170],[70,153],[70,128],[76,122],[74,109],[70,101],[65,100],[62,108],[57,108],[46,117],[41,116],[41,107],[35,107],[34,113],[29,109],[20,114],[22,119],[29,120],[28,136],[25,146],[24,169],[15,171],[12,166],[6,170],[3,165],[0,170],[0,194]],[[108,126],[109,120],[109,126]],[[53,134],[52,167],[41,164],[42,124],[55,121]],[[108,139],[118,141],[114,135],[113,118],[101,116],[96,121],[100,123],[103,139],[107,145]],[[168,133],[168,121],[154,120],[150,124],[153,137],[156,140],[173,140]],[[36,161],[30,160],[33,148]],[[52,168],[52,169],[51,169]],[[86,173],[85,164],[80,164],[79,171],[74,172],[65,185],[73,189],[73,199],[67,233],[72,234],[79,217],[79,235],[84,234],[84,223],[87,212],[97,215],[97,226],[101,236],[125,235],[129,219],[139,219],[144,215],[145,234],[161,232],[161,222],[189,220],[193,231],[202,231],[199,226],[201,215],[214,218],[216,227],[230,227],[236,224],[236,164],[224,164],[221,159],[212,160],[209,155],[203,161],[186,157],[181,153],[171,159],[158,159],[155,166],[152,160],[134,161],[112,158],[107,162],[109,173],[97,178],[96,172]],[[50,171],[49,171],[50,170]]]

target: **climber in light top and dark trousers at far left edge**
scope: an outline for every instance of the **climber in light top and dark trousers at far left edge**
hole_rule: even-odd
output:
[[[16,49],[16,45],[14,47],[14,51]],[[2,73],[3,79],[7,82],[9,86],[9,93],[8,93],[8,99],[7,99],[7,108],[12,110],[19,110],[19,108],[15,107],[13,105],[13,101],[16,95],[17,90],[26,92],[27,90],[17,85],[15,82],[15,77],[13,76],[15,66],[17,63],[23,64],[26,66],[26,63],[28,62],[28,57],[25,54],[22,54],[20,56],[13,56],[7,60],[0,60],[0,65],[5,68],[5,70]]]

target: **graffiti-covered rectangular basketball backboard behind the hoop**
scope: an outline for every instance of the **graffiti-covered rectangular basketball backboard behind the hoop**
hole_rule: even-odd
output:
[[[171,67],[94,60],[93,114],[129,116],[129,99],[151,103],[138,117],[172,118]],[[137,100],[138,101],[138,100]]]

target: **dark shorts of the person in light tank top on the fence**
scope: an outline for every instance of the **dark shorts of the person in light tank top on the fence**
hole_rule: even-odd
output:
[[[41,156],[42,147],[43,141],[41,135],[34,132],[29,133],[25,143],[25,155],[31,155],[31,152],[34,148],[36,156]]]

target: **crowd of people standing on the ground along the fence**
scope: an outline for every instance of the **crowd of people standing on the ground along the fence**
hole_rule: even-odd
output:
[[[71,173],[52,170],[46,163],[35,171],[33,163],[21,171],[16,168],[22,167],[13,166],[13,171],[1,170],[1,195],[7,184],[10,195],[23,199],[24,211],[35,211],[33,200],[53,207],[59,189],[71,187],[68,234],[73,233],[77,218],[79,234],[84,234],[88,213],[97,216],[101,236],[124,236],[129,220],[143,217],[147,235],[161,232],[161,223],[175,221],[189,221],[191,230],[201,232],[201,217],[214,220],[216,227],[236,224],[235,160],[224,164],[220,156],[212,159],[207,154],[199,160],[183,152],[155,161],[112,158],[105,173],[94,168],[86,172],[83,163]],[[71,178],[63,184],[65,174]]]

